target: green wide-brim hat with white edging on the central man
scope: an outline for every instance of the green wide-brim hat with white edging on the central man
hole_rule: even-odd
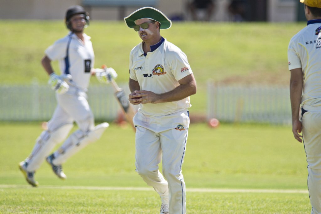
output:
[[[160,23],[160,29],[169,29],[172,26],[172,22],[167,16],[153,7],[143,7],[134,12],[129,16],[125,17],[124,20],[128,27],[134,28],[135,21],[139,19],[151,19]]]

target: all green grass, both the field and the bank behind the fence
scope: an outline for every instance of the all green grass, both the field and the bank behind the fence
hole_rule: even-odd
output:
[[[161,34],[187,54],[198,84],[190,112],[204,114],[210,79],[288,85],[288,42],[304,26],[174,22]],[[0,27],[0,85],[46,84],[40,60],[67,34],[63,21],[0,20]],[[137,33],[117,21],[92,21],[86,33],[92,37],[95,67],[107,64],[117,70],[117,82],[127,82],[129,52],[140,42]],[[99,83],[92,78],[91,84]],[[32,188],[18,162],[30,154],[41,131],[40,122],[0,122],[0,213],[159,212],[158,194],[135,172],[131,128],[111,124],[98,142],[65,163],[65,181],[43,163],[35,174],[40,187]],[[183,164],[187,212],[310,213],[306,165],[303,144],[289,126],[191,124]]]

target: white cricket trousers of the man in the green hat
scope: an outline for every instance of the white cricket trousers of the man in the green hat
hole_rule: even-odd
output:
[[[165,116],[137,112],[136,172],[169,204],[169,213],[186,213],[186,190],[182,174],[189,115],[182,111]],[[158,165],[162,160],[162,174]],[[166,180],[165,180],[166,178]]]

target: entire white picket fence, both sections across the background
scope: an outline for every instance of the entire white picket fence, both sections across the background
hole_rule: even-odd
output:
[[[127,84],[121,85],[129,94]],[[112,121],[120,112],[111,86],[90,86],[88,102],[96,120]],[[194,95],[196,96],[196,95]],[[289,89],[207,85],[207,118],[225,122],[290,124]],[[0,121],[46,121],[56,108],[47,85],[0,86]]]

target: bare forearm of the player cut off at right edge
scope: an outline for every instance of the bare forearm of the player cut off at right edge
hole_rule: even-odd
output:
[[[303,83],[293,80],[290,82],[290,100],[292,110],[292,122],[299,119]]]

